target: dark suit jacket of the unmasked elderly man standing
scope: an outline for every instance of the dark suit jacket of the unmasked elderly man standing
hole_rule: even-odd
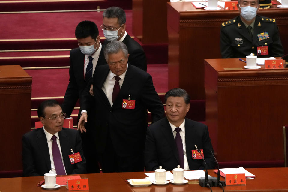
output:
[[[128,65],[119,95],[111,107],[102,86],[110,69],[108,65],[98,67],[93,77],[95,95],[95,148],[103,153],[107,135],[110,134],[117,155],[127,157],[143,154],[147,128],[147,109],[152,113],[152,122],[164,117],[164,107],[153,86],[152,77],[133,65]],[[123,109],[123,99],[135,100],[135,109]],[[90,107],[89,86],[81,97],[81,110]],[[88,114],[89,116],[89,114]]]

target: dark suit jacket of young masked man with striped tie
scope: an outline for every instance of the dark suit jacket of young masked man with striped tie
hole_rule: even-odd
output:
[[[96,68],[99,65],[107,64],[103,50],[104,45],[102,45]],[[83,89],[88,84],[84,78],[84,61],[85,55],[80,51],[79,47],[70,51],[69,84],[64,96],[63,104],[61,105],[62,110],[67,113],[68,117],[71,115]],[[95,75],[95,72],[96,69],[93,76]]]

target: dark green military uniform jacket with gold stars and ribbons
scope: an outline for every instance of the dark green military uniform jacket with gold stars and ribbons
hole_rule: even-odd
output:
[[[269,38],[259,41],[257,34],[268,32]],[[258,57],[281,57],[284,55],[275,19],[257,15],[253,39],[240,16],[222,23],[220,48],[223,58],[246,58],[250,53],[257,56],[257,46],[268,46],[268,55]]]

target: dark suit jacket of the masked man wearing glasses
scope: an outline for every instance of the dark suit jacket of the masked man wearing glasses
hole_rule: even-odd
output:
[[[104,44],[106,45],[107,43],[109,43],[109,41],[107,41],[106,39],[104,41]],[[128,35],[128,33],[126,37],[123,39],[123,43],[127,46],[128,53],[130,54],[128,58],[128,63],[136,67],[139,67],[144,71],[147,71],[147,60],[142,46],[137,41],[132,39]]]

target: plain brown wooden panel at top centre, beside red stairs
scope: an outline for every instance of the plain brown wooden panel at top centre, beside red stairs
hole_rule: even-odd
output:
[[[168,43],[167,5],[170,0],[133,0],[133,35],[143,44]]]

